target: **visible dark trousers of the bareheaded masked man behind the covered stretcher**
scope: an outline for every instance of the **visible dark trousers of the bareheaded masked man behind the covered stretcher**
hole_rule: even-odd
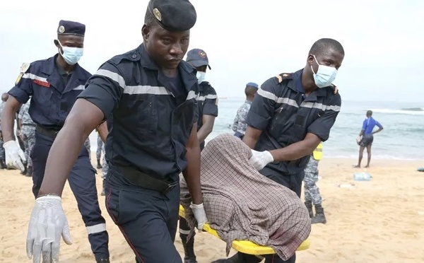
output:
[[[267,167],[260,170],[259,173],[273,180],[274,182],[278,182],[280,185],[284,185],[288,187],[288,189],[295,192],[300,198],[300,194],[302,193],[302,180],[305,177],[305,173],[300,171],[295,175],[282,175],[281,173],[276,173],[276,171],[271,170]],[[261,262],[262,259],[256,257],[254,255],[247,255],[241,252],[239,253],[239,260],[243,263],[257,263]],[[265,263],[294,263],[296,262],[296,254],[290,257],[288,260],[283,260],[278,255],[264,255]]]

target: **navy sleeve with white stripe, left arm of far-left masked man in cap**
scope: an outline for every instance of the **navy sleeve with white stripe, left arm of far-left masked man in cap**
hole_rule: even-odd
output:
[[[37,76],[36,73],[31,73],[33,69],[34,66],[31,64],[27,71],[21,72],[16,80],[16,85],[8,91],[8,94],[16,98],[19,103],[25,104],[33,95],[33,81],[35,79],[47,81],[45,78]]]

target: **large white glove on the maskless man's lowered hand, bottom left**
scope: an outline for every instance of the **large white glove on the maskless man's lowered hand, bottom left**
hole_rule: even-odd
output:
[[[61,198],[47,195],[35,199],[28,226],[26,251],[33,263],[59,262],[60,236],[71,245],[68,220],[61,206]]]

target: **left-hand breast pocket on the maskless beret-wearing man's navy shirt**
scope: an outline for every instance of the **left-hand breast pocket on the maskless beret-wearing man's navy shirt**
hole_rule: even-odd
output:
[[[133,123],[133,129],[137,134],[148,135],[155,134],[158,128],[158,112],[155,109],[155,99],[151,95],[131,95],[127,98],[123,113],[124,117],[138,115],[136,122]]]

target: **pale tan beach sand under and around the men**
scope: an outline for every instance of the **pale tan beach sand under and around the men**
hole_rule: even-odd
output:
[[[93,158],[94,160],[95,158]],[[327,223],[312,226],[309,250],[297,262],[424,262],[424,160],[372,160],[372,181],[355,182],[356,160],[323,158],[318,186],[324,198]],[[98,189],[101,189],[100,171]],[[25,255],[25,238],[34,198],[32,180],[16,170],[0,170],[0,262],[32,262]],[[354,184],[352,188],[339,185]],[[134,262],[134,255],[105,209],[111,262]],[[63,204],[73,245],[61,242],[60,262],[94,262],[86,228],[66,185]],[[177,235],[175,245],[183,255]],[[225,257],[225,243],[208,233],[196,235],[199,262]],[[232,250],[233,254],[235,251]]]

